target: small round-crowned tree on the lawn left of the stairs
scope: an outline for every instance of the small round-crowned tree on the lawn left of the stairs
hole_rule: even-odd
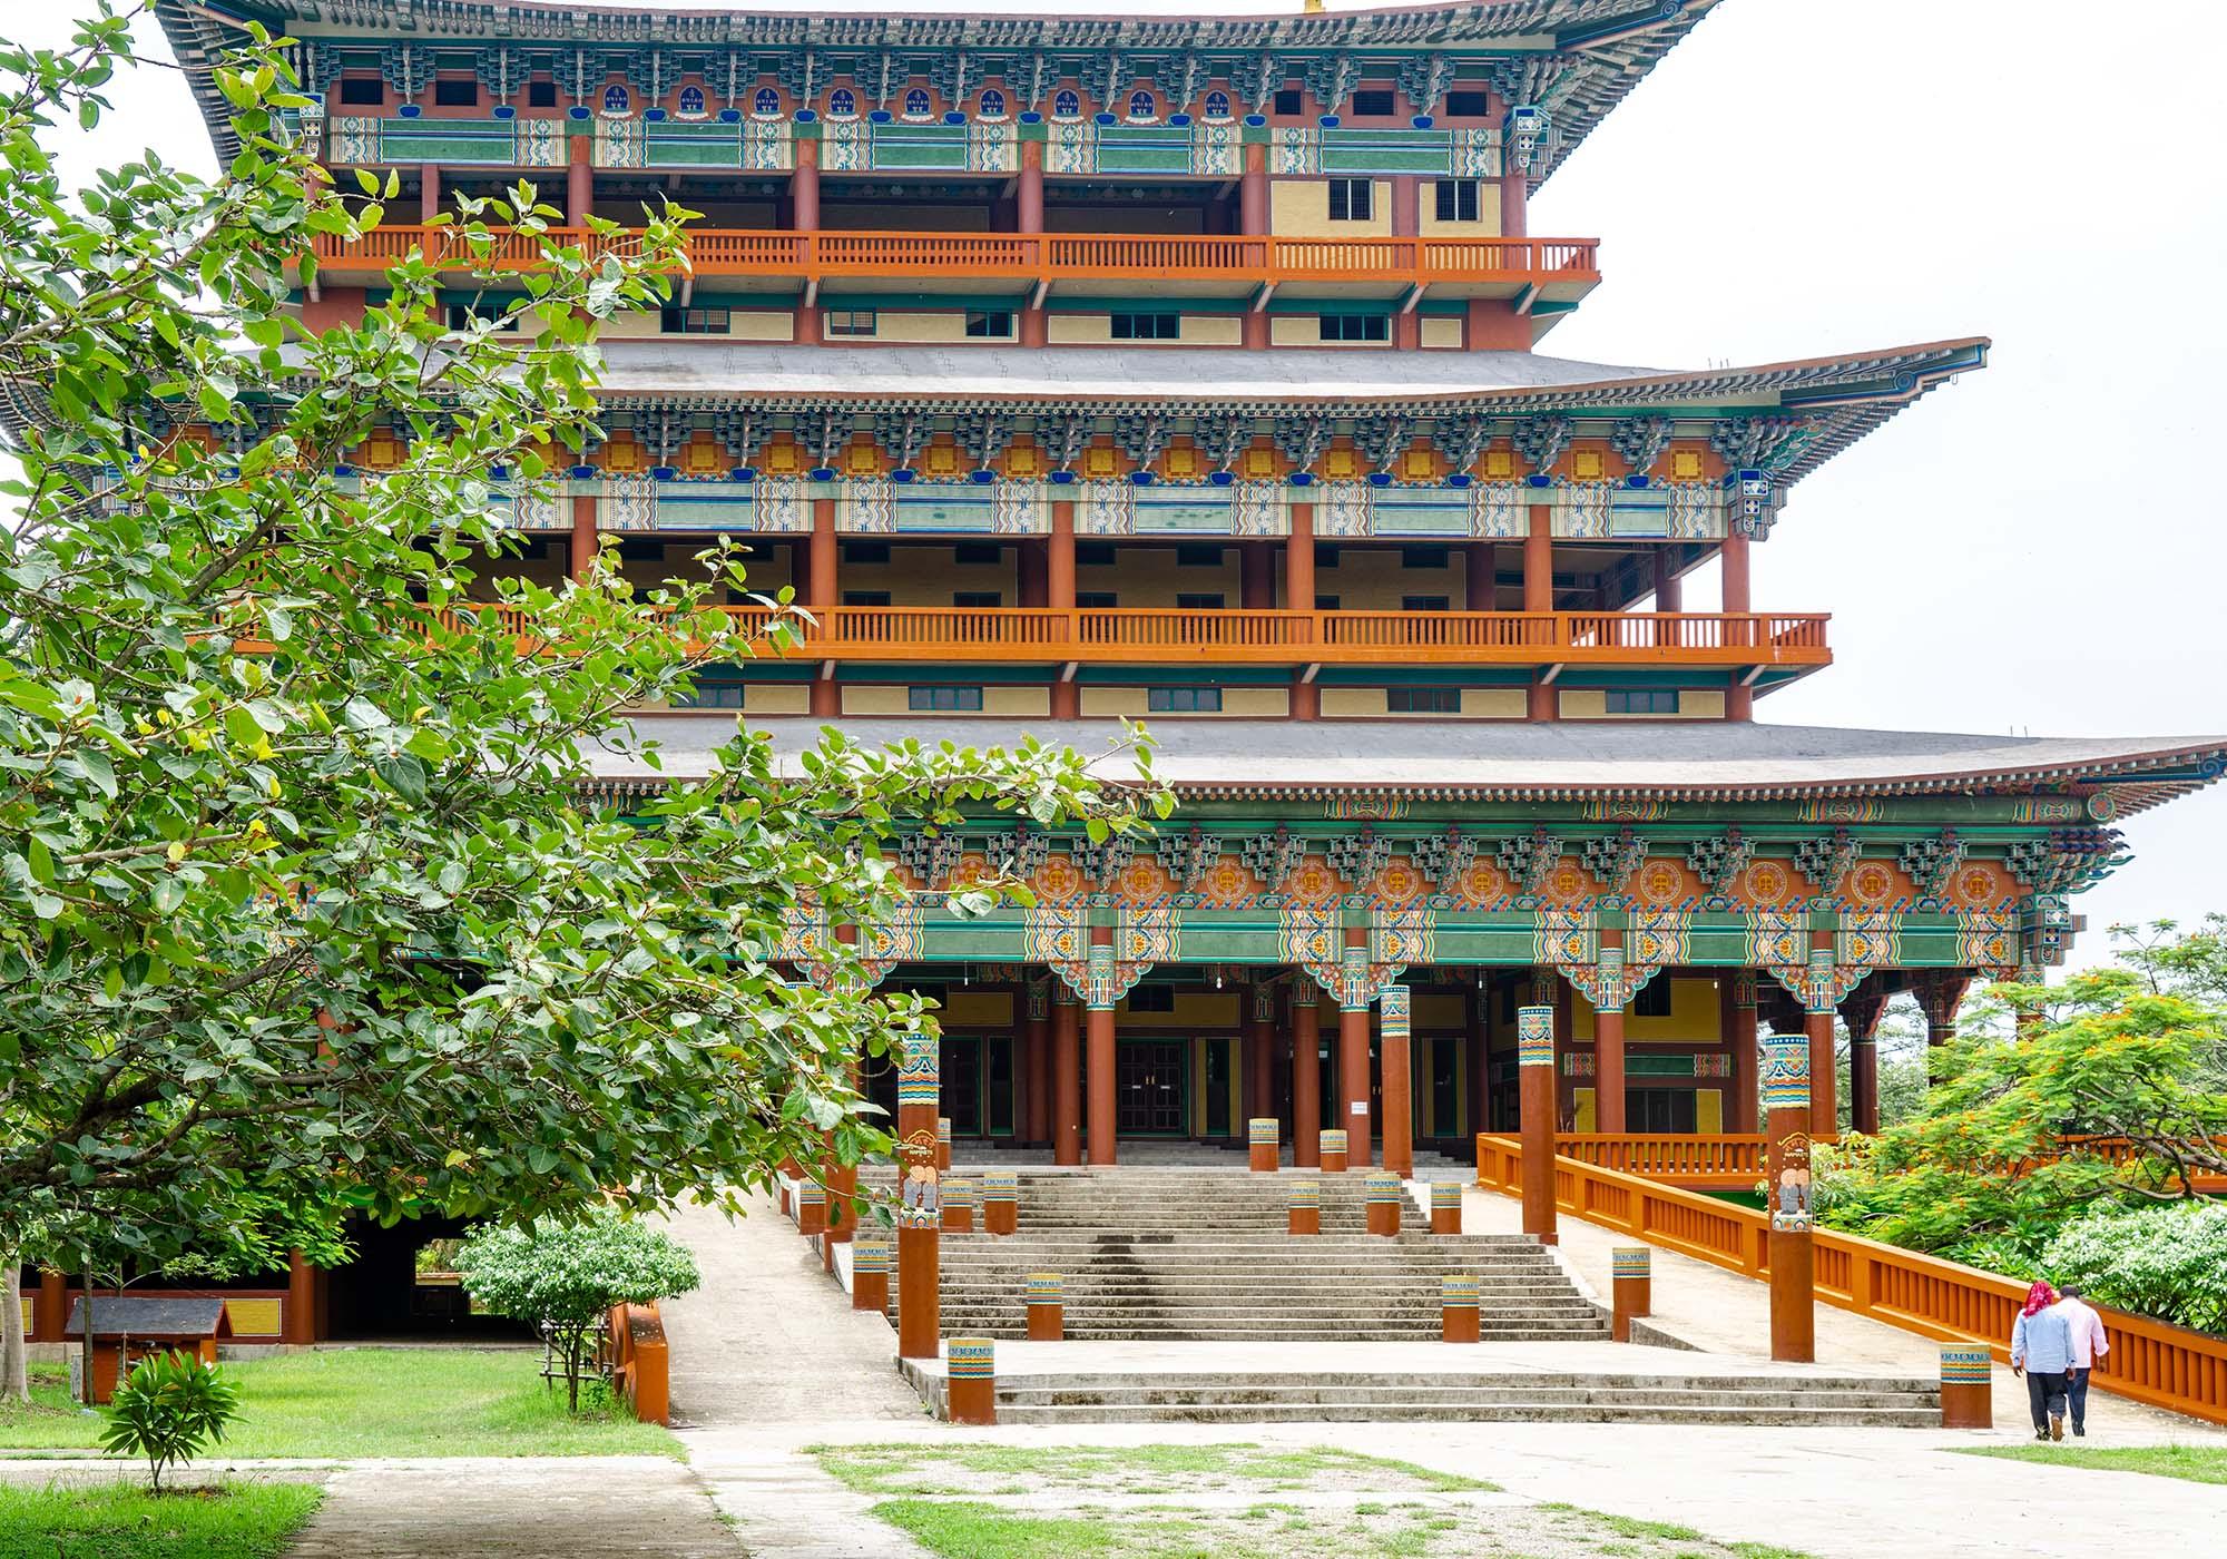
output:
[[[463,1287],[499,1316],[530,1321],[563,1367],[566,1408],[612,1305],[648,1305],[697,1287],[695,1256],[661,1229],[621,1214],[579,1223],[501,1225],[457,1252]]]

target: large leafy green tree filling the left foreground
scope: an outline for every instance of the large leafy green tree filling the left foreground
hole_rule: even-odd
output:
[[[590,258],[530,187],[459,198],[452,249],[539,247],[470,283],[497,318],[450,330],[454,276],[412,254],[312,332],[314,245],[394,180],[323,178],[247,24],[218,178],[147,154],[65,189],[49,140],[98,122],[129,20],[0,45],[0,1265],[87,1223],[160,1263],[241,1205],[657,1207],[822,1134],[884,1145],[851,1062],[933,1020],[784,975],[786,911],[884,911],[900,820],[1102,833],[1167,795],[1033,742],[831,733],[782,768],[737,731],[704,782],[592,800],[590,751],[659,764],[624,710],[795,621],[784,592],[771,644],[739,635],[719,548],[648,592],[492,577],[512,503],[595,437],[597,325],[668,296],[686,214]],[[405,459],[350,474],[379,430]]]

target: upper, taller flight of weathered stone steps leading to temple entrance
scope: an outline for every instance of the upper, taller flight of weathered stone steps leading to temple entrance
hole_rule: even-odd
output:
[[[955,1174],[967,1174],[967,1165]],[[1289,1174],[1020,1169],[1020,1232],[942,1238],[946,1336],[1027,1332],[1027,1276],[1065,1278],[1071,1341],[1421,1343],[1439,1276],[1479,1278],[1485,1341],[1599,1341],[1608,1318],[1525,1236],[1365,1232],[1365,1176],[1321,1176],[1323,1234],[1287,1234]],[[891,1285],[891,1321],[895,1321]]]

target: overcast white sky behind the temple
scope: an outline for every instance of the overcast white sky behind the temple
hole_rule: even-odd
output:
[[[73,11],[0,0],[0,33],[58,42]],[[1757,550],[1755,606],[1831,610],[1840,657],[1762,719],[2227,733],[2227,506],[2207,465],[2227,372],[2223,56],[2209,0],[1728,0],[1534,200],[1534,234],[1601,238],[1606,283],[1548,336],[1557,356],[1686,367],[1995,339],[1989,370],[1804,481]],[[143,145],[212,163],[183,82],[116,98],[85,167]],[[1715,606],[1715,581],[1686,604]],[[2080,900],[2087,958],[2111,922],[2227,909],[2227,791],[2127,837],[2133,864]]]

